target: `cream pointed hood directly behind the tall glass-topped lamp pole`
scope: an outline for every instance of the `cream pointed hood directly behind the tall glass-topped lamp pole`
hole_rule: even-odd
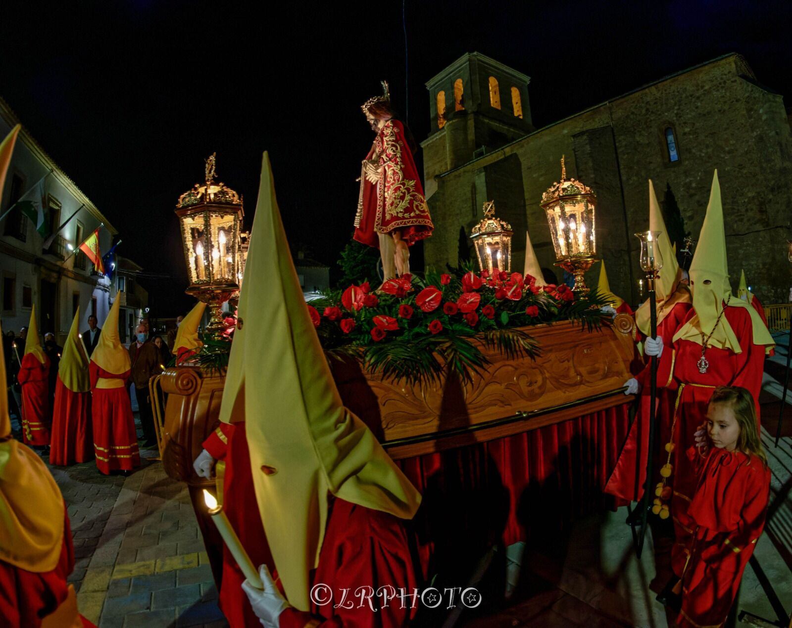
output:
[[[682,270],[676,262],[676,244],[671,244],[668,237],[668,229],[665,228],[665,221],[654,193],[652,180],[649,180],[649,229],[659,231],[657,236],[657,248],[663,257],[663,267],[654,282],[654,293],[657,299],[657,324],[660,324],[665,316],[671,312],[677,303],[690,303],[690,292],[680,286]],[[649,336],[649,299],[644,301],[635,312],[635,323],[642,334]]]

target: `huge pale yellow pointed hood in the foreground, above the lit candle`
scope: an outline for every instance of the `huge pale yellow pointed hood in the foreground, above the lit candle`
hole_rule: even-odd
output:
[[[261,522],[288,600],[310,607],[329,493],[410,519],[421,495],[344,404],[311,323],[264,153],[223,388],[223,422],[246,422]]]

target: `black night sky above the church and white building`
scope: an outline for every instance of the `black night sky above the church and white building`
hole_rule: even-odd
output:
[[[249,226],[268,150],[289,239],[335,264],[371,146],[360,104],[383,78],[419,142],[425,81],[472,51],[531,77],[536,127],[728,52],[792,106],[792,2],[407,0],[407,70],[402,2],[58,4],[3,7],[0,95],[119,229],[119,254],[171,276],[141,281],[154,316],[189,305],[173,209],[214,151]]]

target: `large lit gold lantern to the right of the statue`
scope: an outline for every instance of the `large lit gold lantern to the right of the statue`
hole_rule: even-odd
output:
[[[576,292],[588,292],[583,274],[596,259],[594,191],[574,179],[566,179],[564,157],[561,158],[561,181],[553,183],[540,203],[547,214],[553,238],[556,266],[575,276]]]

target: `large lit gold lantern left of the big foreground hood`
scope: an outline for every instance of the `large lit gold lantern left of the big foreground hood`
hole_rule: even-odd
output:
[[[209,306],[207,326],[223,335],[223,303],[239,290],[242,199],[230,187],[215,183],[216,153],[206,160],[204,184],[179,197],[176,215],[181,227],[190,285],[186,292]]]

